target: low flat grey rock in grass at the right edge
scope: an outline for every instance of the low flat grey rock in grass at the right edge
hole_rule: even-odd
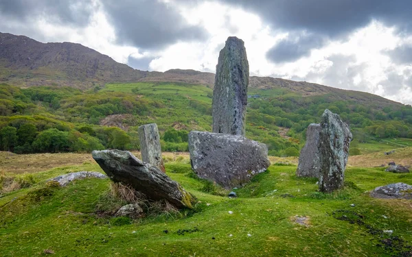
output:
[[[412,199],[412,186],[404,183],[378,186],[370,193],[371,197],[383,199]]]

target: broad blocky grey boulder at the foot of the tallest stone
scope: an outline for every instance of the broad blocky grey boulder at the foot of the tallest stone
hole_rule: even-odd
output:
[[[266,145],[229,134],[192,131],[189,134],[192,169],[200,178],[233,188],[266,171]]]

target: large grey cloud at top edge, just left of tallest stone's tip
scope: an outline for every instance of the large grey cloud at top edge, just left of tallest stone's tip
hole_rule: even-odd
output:
[[[155,0],[102,0],[104,10],[115,26],[119,43],[142,49],[161,49],[179,40],[203,40],[203,27],[187,24],[183,16]]]

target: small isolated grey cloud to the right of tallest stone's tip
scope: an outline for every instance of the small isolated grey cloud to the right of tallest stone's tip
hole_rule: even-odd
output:
[[[310,51],[319,48],[325,40],[317,35],[291,35],[278,42],[267,53],[266,58],[272,62],[293,62],[303,56],[309,56]]]

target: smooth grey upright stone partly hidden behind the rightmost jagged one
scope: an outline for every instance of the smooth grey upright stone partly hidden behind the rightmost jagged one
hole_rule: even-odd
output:
[[[301,149],[296,175],[298,177],[319,178],[321,169],[319,158],[319,132],[321,125],[312,123],[306,130],[306,144]]]

